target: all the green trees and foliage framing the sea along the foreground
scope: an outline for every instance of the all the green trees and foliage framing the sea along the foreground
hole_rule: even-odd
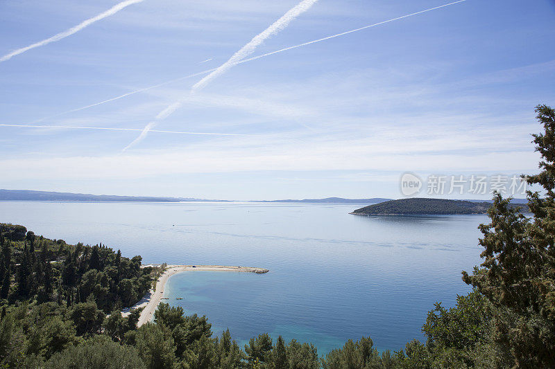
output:
[[[422,332],[398,352],[378,352],[369,337],[318,357],[314,345],[268,334],[241,349],[227,330],[212,337],[205,316],[160,304],[137,328],[140,310],[122,316],[156,276],[141,259],[105,246],[69,246],[0,225],[0,367],[3,368],[555,368],[555,111],[536,109],[543,161],[527,177],[532,217],[495,195],[480,226],[484,262],[463,280],[467,296],[436,303]],[[127,281],[127,282],[124,282]],[[110,315],[106,312],[114,309]]]

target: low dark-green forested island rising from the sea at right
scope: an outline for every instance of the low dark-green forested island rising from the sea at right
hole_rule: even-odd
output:
[[[465,200],[425,199],[414,197],[384,201],[354,210],[355,215],[449,215],[449,214],[486,214],[490,202]]]

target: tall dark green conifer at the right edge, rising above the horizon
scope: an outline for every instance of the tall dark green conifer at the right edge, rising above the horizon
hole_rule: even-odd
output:
[[[481,268],[463,280],[495,307],[495,341],[509,348],[516,368],[555,367],[555,111],[538,105],[544,132],[533,135],[541,172],[525,177],[543,193],[527,194],[533,219],[496,194],[481,224]]]

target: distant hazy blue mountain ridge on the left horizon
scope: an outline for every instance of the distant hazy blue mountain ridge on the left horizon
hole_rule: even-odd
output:
[[[86,193],[49,192],[31,190],[0,190],[0,201],[102,201],[102,202],[181,202],[181,201],[227,201],[194,199],[190,197],[148,197],[90,195]]]

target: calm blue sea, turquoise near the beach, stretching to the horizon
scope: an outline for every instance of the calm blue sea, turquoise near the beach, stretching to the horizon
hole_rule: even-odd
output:
[[[413,338],[434,302],[466,294],[483,215],[360,217],[345,204],[0,202],[0,222],[66,242],[103,242],[146,263],[227,264],[270,273],[191,271],[169,303],[206,314],[237,341],[268,332],[323,354],[371,336],[381,350]],[[176,300],[183,297],[183,300]]]

